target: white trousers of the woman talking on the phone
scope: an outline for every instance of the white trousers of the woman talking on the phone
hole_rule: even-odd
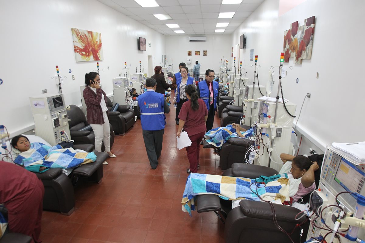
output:
[[[104,139],[105,152],[110,152],[110,125],[107,112],[103,112],[104,124],[90,124],[95,134],[95,149],[101,152]]]

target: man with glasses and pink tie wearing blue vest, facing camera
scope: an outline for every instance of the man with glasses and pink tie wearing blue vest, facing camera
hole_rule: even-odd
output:
[[[213,81],[214,78],[214,71],[208,69],[205,71],[205,80],[200,81],[197,86],[198,96],[203,99],[208,109],[207,131],[213,128],[215,111],[217,110],[217,103],[219,101],[218,82]]]

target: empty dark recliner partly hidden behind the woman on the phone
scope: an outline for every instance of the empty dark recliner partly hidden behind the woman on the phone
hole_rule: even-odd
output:
[[[73,144],[95,144],[95,135],[88,124],[85,114],[76,105],[70,105],[70,110],[67,110],[70,127],[70,136],[74,140]],[[112,125],[110,125],[110,147],[114,143],[114,131]],[[101,145],[101,151],[104,151],[104,142]]]

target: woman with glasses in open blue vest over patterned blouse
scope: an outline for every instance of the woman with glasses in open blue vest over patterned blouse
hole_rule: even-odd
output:
[[[188,77],[188,72],[189,72],[189,69],[187,67],[181,67],[181,69],[180,69],[181,78],[176,79],[176,93],[175,93],[174,100],[172,102],[173,104],[177,104],[176,117],[175,117],[176,125],[179,125],[178,116],[180,113],[181,106],[183,106],[183,104],[188,101],[188,98],[185,93],[185,87],[187,85],[196,86],[195,82],[194,82],[194,78]]]

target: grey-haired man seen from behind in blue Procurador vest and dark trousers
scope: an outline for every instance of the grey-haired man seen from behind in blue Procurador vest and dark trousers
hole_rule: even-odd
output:
[[[156,79],[147,78],[147,91],[138,97],[138,109],[141,111],[143,140],[152,169],[156,169],[162,150],[162,138],[165,132],[165,114],[170,112],[163,94],[156,93]]]

